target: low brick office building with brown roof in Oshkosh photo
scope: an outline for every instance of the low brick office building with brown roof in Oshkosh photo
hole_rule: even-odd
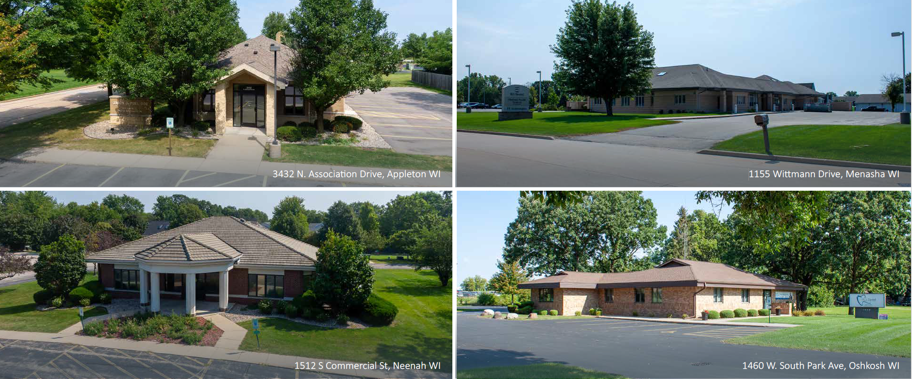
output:
[[[632,272],[561,271],[519,284],[532,290],[535,309],[571,315],[601,308],[602,314],[675,317],[706,311],[763,309],[790,312],[807,286],[708,261],[672,259]]]

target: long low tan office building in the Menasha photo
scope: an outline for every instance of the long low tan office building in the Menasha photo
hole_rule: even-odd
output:
[[[824,102],[814,83],[792,83],[774,77],[738,77],[703,65],[656,67],[649,93],[610,100],[617,113],[752,112],[803,109]],[[605,99],[591,97],[589,110],[606,112]]]

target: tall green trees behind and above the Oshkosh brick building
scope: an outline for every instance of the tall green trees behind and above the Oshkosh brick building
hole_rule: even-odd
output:
[[[716,261],[809,286],[797,300],[801,309],[850,292],[909,291],[907,191],[698,192],[698,200],[733,211],[720,220],[681,208],[670,233],[638,191],[582,195],[563,206],[521,198],[504,260],[537,275],[638,271],[671,258]]]

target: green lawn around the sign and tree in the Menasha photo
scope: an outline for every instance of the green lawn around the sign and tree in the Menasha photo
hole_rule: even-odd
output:
[[[607,117],[590,112],[534,112],[532,118],[497,120],[498,112],[456,113],[456,128],[536,134],[541,136],[579,136],[613,133],[632,128],[674,124],[679,121],[648,119],[656,115],[615,115]]]

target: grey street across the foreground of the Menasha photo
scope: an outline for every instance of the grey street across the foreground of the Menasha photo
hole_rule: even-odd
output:
[[[457,133],[459,187],[908,187],[890,173],[570,139]],[[763,172],[763,170],[768,170]],[[845,178],[846,172],[884,178]],[[810,172],[815,178],[776,178]],[[767,178],[758,178],[764,174]],[[840,178],[833,177],[839,174]],[[753,178],[751,178],[753,175]]]

